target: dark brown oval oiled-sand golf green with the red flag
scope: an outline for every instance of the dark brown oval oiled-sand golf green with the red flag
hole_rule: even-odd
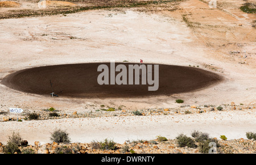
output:
[[[101,64],[108,65],[110,70],[110,63],[33,67],[7,75],[2,79],[1,83],[14,90],[39,95],[51,96],[50,93],[53,87],[53,92],[60,97],[130,98],[195,91],[222,81],[220,75],[197,67],[159,64],[159,88],[156,91],[148,91],[148,86],[153,85],[141,83],[137,85],[100,85],[97,82],[97,78],[101,72],[98,72],[97,68]],[[115,66],[119,64],[127,66],[127,70],[129,68],[128,65],[135,65],[131,63],[115,63]],[[154,79],[154,64],[151,65]],[[115,72],[115,75],[118,73]]]

